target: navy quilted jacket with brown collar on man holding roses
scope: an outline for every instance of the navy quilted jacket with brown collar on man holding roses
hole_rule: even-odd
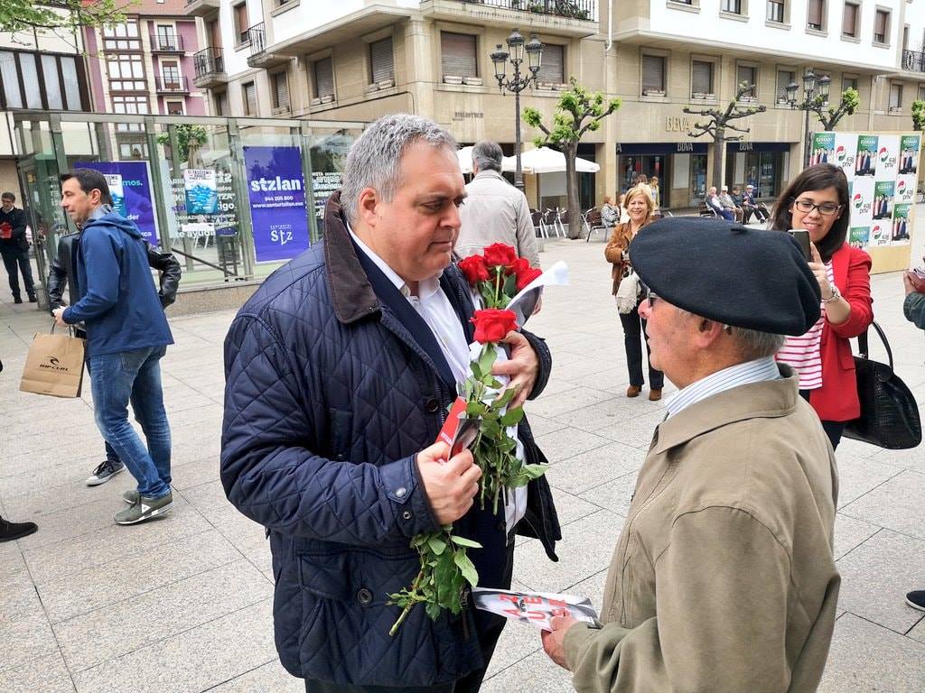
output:
[[[437,529],[414,459],[436,439],[455,394],[376,296],[338,201],[328,201],[324,243],[268,277],[228,332],[221,479],[231,503],[267,529],[277,650],[290,674],[370,686],[449,682],[483,664],[472,611],[431,621],[418,607],[389,637],[400,610],[386,602],[417,573],[409,540]],[[461,319],[470,315],[455,266],[441,284]],[[524,334],[541,360],[536,396],[549,349]],[[545,462],[525,421],[519,435],[527,461]],[[474,508],[456,529],[486,546],[470,552],[479,584],[503,587],[503,517]],[[561,534],[545,479],[531,484],[518,531],[556,560]]]

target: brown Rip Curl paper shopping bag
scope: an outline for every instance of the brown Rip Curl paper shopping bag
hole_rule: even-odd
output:
[[[79,397],[84,340],[70,334],[36,334],[26,356],[19,389],[36,395]]]

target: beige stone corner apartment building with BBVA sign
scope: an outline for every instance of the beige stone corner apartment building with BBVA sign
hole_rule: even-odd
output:
[[[861,107],[838,129],[907,131],[925,97],[922,0],[189,0],[203,19],[194,58],[212,112],[372,120],[397,111],[428,116],[461,143],[499,140],[510,153],[514,105],[490,54],[512,29],[544,44],[536,87],[522,108],[547,121],[570,77],[618,96],[623,107],[588,133],[581,156],[601,166],[586,198],[658,175],[662,203],[686,207],[709,186],[709,140],[688,132],[691,108],[724,108],[735,86],[765,113],[727,148],[724,180],[771,198],[801,167],[804,114],[786,86],[813,70],[832,100],[854,87]],[[612,10],[612,12],[611,12]],[[508,70],[510,75],[510,67]],[[797,98],[802,89],[797,90]],[[819,129],[813,116],[810,128]],[[536,131],[524,126],[524,141]],[[530,146],[527,144],[527,146]],[[528,176],[528,196],[536,195]],[[564,194],[544,181],[544,198]],[[542,206],[549,201],[531,202]]]

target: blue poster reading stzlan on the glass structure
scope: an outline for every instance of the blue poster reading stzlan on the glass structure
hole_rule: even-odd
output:
[[[298,147],[244,147],[258,262],[290,260],[307,249],[305,181]]]

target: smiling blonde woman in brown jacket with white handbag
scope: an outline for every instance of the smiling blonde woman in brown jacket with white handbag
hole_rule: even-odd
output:
[[[613,295],[617,299],[617,310],[620,312],[620,322],[623,324],[623,346],[626,350],[626,367],[630,375],[626,396],[637,397],[642,392],[644,383],[640,338],[646,339],[646,321],[639,315],[639,304],[645,297],[639,296],[639,283],[630,266],[629,249],[639,229],[652,221],[655,202],[648,193],[648,186],[637,186],[627,191],[623,205],[629,215],[629,221],[613,229],[607,248],[604,249],[604,256],[612,265]],[[648,341],[646,352],[649,353]],[[659,401],[661,388],[664,385],[664,375],[661,371],[652,368],[651,362],[648,366],[648,385],[648,398],[653,402]]]

